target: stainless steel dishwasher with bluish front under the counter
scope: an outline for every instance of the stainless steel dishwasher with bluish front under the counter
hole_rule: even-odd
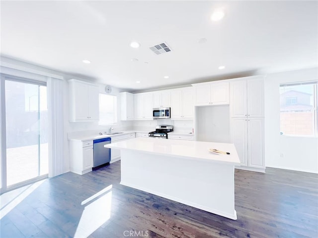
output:
[[[94,145],[94,162],[93,168],[110,162],[110,149],[105,148],[104,145],[110,144],[111,138],[102,138],[93,141]]]

